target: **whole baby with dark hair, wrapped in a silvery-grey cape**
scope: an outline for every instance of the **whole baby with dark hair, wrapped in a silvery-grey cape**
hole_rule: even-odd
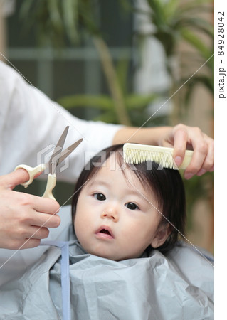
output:
[[[69,259],[50,247],[1,287],[1,319],[213,319],[213,267],[175,245],[186,220],[179,171],[125,164],[122,145],[110,146],[80,174],[72,214]]]

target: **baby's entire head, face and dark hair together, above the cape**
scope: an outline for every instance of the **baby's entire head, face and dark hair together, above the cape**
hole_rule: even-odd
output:
[[[184,185],[177,170],[158,167],[124,164],[122,145],[90,160],[72,202],[75,234],[86,252],[119,261],[174,246],[184,234]]]

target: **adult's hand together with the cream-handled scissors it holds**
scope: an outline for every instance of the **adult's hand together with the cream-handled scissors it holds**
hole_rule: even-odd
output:
[[[65,128],[48,164],[39,164],[35,168],[21,164],[10,174],[0,177],[0,247],[11,250],[37,247],[41,239],[47,238],[48,228],[57,228],[60,217],[56,215],[59,210],[57,201],[53,201],[52,190],[56,186],[56,167],[77,146],[82,139],[75,142],[68,149],[63,149],[63,144],[68,132]],[[14,191],[14,187],[21,183],[28,186],[33,178],[43,170],[49,169],[46,191],[43,197],[33,196],[28,193]],[[29,176],[28,181],[26,181]],[[22,183],[26,181],[26,183]],[[50,199],[51,198],[51,199]]]

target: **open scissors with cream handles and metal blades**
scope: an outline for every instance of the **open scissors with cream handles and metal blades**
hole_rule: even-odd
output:
[[[65,149],[62,152],[63,145],[65,143],[66,136],[68,134],[68,126],[65,127],[65,130],[63,131],[63,134],[61,134],[60,139],[58,140],[58,143],[56,144],[55,149],[53,150],[53,154],[51,155],[50,160],[47,164],[38,164],[38,166],[35,166],[34,168],[31,166],[27,166],[26,164],[19,164],[19,166],[16,166],[14,170],[17,169],[25,169],[29,174],[29,180],[21,183],[24,188],[27,188],[29,184],[33,182],[34,177],[38,174],[43,172],[46,169],[46,166],[48,166],[48,180],[46,183],[46,190],[43,193],[43,198],[50,198],[53,200],[56,200],[53,197],[52,191],[53,188],[56,186],[56,169],[58,164],[60,164],[65,158],[67,158],[71,152],[80,144],[80,142],[83,141],[83,139],[79,139],[77,142],[69,146],[67,149]]]

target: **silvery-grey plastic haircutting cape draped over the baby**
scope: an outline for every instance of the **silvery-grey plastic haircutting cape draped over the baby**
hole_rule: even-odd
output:
[[[63,319],[60,249],[50,247],[1,287],[0,319]],[[64,274],[63,274],[64,276]],[[77,320],[213,319],[213,265],[191,246],[115,262],[70,242],[70,309]]]

